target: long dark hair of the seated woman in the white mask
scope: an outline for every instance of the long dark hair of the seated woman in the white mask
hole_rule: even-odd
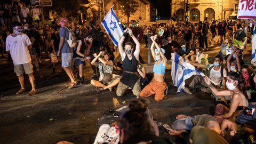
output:
[[[244,94],[245,98],[248,99],[248,95],[246,93],[247,86],[246,86],[245,79],[244,79],[244,76],[242,75],[242,73],[231,71],[230,73],[228,73],[228,76],[232,80],[238,82],[237,88]]]

